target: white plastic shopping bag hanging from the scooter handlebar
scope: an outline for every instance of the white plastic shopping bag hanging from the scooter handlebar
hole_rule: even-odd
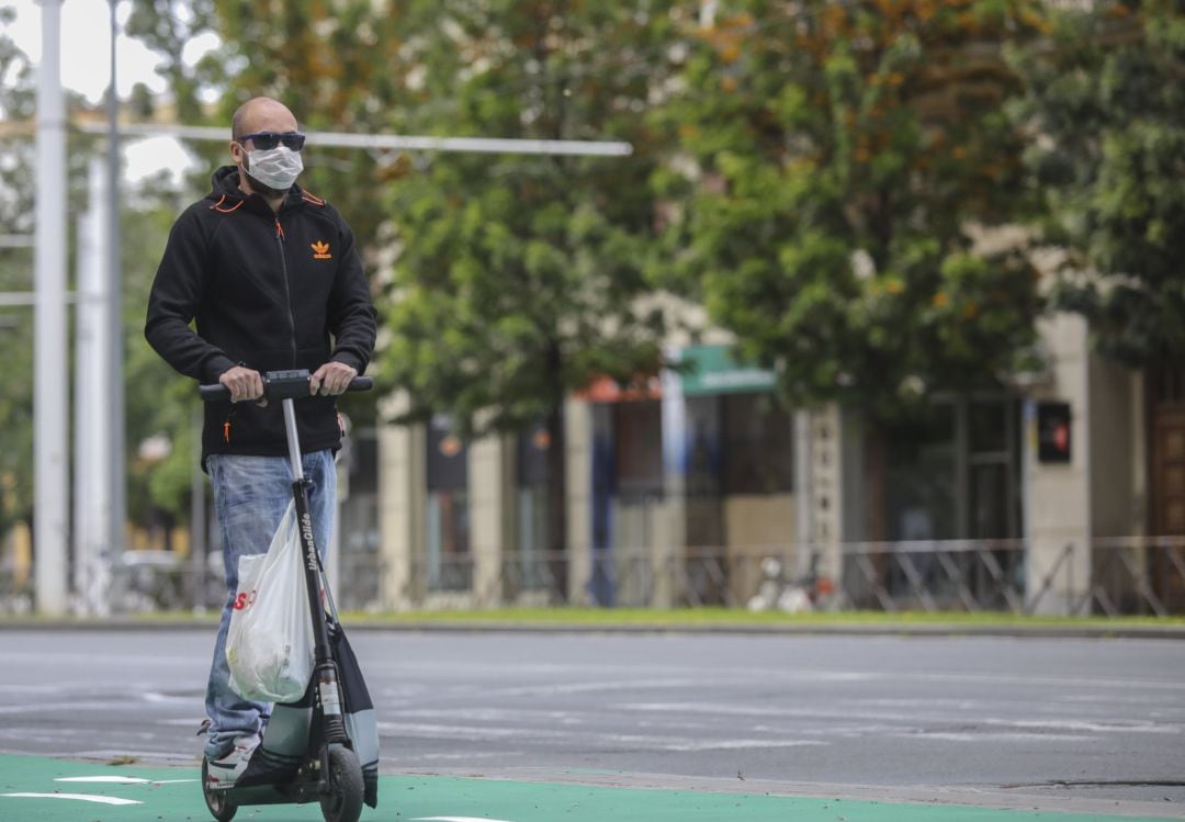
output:
[[[226,635],[230,687],[243,699],[292,702],[313,675],[313,617],[292,502],[265,554],[238,560],[238,591]]]

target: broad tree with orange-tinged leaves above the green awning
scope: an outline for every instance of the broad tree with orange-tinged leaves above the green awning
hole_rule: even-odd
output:
[[[665,277],[703,294],[795,403],[888,419],[998,386],[1042,310],[1023,244],[975,238],[1032,206],[1005,43],[1027,0],[736,0],[696,24],[662,113],[693,161]],[[660,278],[660,282],[664,281]]]

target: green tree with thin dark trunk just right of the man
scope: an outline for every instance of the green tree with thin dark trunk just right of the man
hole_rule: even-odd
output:
[[[549,534],[565,544],[563,403],[654,374],[665,326],[640,307],[661,145],[645,113],[671,28],[662,2],[412,2],[416,133],[624,140],[629,158],[438,154],[386,198],[399,256],[383,375],[405,419],[462,435],[549,434]],[[659,59],[655,59],[659,58]]]

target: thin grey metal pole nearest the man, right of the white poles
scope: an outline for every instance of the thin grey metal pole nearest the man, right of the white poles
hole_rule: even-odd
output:
[[[127,520],[127,471],[124,461],[124,400],[123,400],[123,266],[120,256],[120,95],[115,84],[115,45],[118,23],[115,8],[118,0],[110,0],[111,8],[111,85],[107,94],[107,346],[108,381],[104,386],[108,407],[108,444],[110,515],[104,541],[111,558],[123,550],[123,527]],[[90,398],[79,397],[76,402]],[[97,397],[95,398],[98,399]]]

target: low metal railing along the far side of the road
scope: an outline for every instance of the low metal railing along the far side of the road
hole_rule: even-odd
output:
[[[853,542],[840,546],[838,580],[819,573],[816,551],[776,546],[595,551],[572,578],[564,553],[507,554],[481,565],[470,554],[404,564],[398,590],[377,551],[344,551],[337,599],[348,610],[488,605],[724,606],[779,610],[1048,611],[1074,615],[1185,614],[1185,537],[1100,539],[1084,552],[1066,545],[1032,579],[1020,540]],[[813,561],[815,560],[815,561]],[[571,590],[572,585],[579,590]],[[222,560],[168,552],[124,552],[113,570],[109,611],[217,610],[225,601]],[[0,565],[0,615],[33,610],[32,574]]]

